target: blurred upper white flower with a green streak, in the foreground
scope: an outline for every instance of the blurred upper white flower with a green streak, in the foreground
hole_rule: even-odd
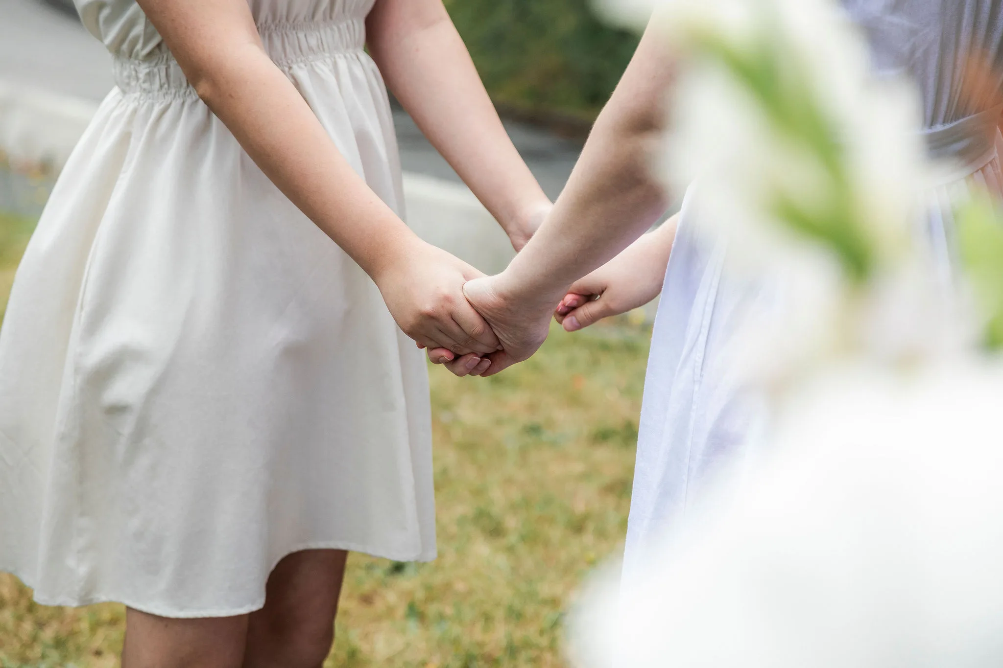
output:
[[[865,39],[831,0],[654,4],[683,62],[667,179],[691,188],[697,228],[727,239],[734,279],[772,283],[778,297],[748,327],[756,354],[735,363],[779,387],[835,357],[914,356],[914,335],[861,316],[921,289],[913,239],[931,170],[917,92],[872,75]],[[945,321],[927,307],[896,312],[923,332]],[[901,350],[895,333],[908,335]]]

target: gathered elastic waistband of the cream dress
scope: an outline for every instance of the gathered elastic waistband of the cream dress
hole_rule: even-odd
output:
[[[361,19],[328,23],[272,23],[258,26],[265,51],[279,67],[322,60],[365,47],[366,27]],[[164,52],[136,60],[116,56],[115,84],[124,93],[195,95],[178,61]]]

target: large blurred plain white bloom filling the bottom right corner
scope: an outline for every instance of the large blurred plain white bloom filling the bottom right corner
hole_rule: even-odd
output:
[[[802,388],[773,456],[723,478],[643,587],[601,589],[619,621],[577,618],[578,665],[1003,665],[1001,405],[978,362]]]

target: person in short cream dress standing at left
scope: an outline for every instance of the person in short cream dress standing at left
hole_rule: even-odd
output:
[[[0,336],[0,570],[124,603],[126,667],[319,666],[346,551],[435,556],[408,337],[498,346],[400,217],[384,78],[517,249],[551,203],[439,0],[76,8],[117,86]]]

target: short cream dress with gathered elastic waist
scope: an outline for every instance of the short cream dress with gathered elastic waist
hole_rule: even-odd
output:
[[[271,58],[402,214],[363,50],[373,2],[250,6]],[[139,7],[76,4],[117,86],[52,191],[0,332],[0,570],[43,604],[210,617],[260,608],[298,550],[433,559],[423,355]]]

